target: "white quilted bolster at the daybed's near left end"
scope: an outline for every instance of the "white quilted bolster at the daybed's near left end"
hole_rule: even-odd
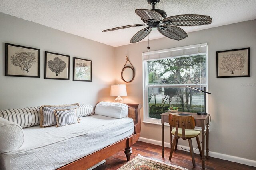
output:
[[[0,117],[0,154],[20,148],[23,142],[22,127]]]

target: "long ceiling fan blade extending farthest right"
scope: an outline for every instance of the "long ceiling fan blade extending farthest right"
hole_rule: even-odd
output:
[[[196,14],[184,14],[184,15],[177,15],[177,16],[170,16],[164,18],[162,20],[163,23],[174,26],[199,26],[199,25],[207,25],[212,23],[212,18],[210,16],[204,15],[196,15]]]

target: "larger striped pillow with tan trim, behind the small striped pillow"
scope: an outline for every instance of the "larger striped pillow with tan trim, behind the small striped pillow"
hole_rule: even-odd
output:
[[[77,109],[79,104],[71,105],[59,105],[50,106],[44,105],[40,107],[40,127],[48,127],[57,124],[56,117],[54,115],[54,110],[66,110],[66,109]]]

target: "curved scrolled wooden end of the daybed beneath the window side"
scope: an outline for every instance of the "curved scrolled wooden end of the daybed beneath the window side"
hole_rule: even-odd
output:
[[[140,120],[140,109],[142,107],[141,104],[131,104],[126,103],[128,105],[128,117],[133,119],[134,122],[134,134],[140,133],[141,129],[141,120]]]

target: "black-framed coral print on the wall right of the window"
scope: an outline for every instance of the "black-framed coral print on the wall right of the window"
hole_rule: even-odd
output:
[[[250,77],[250,48],[216,52],[217,78]]]

